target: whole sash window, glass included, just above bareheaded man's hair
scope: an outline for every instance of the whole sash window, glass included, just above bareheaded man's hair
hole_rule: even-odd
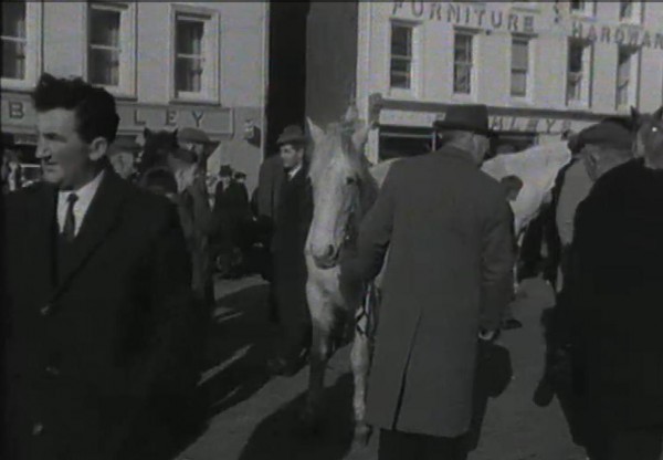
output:
[[[134,15],[134,3],[88,3],[87,80],[114,94],[135,92]]]

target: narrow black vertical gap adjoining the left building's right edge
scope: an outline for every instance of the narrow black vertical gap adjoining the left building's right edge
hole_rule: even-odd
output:
[[[287,125],[304,123],[308,10],[308,1],[270,2],[265,156],[276,153],[276,139]]]

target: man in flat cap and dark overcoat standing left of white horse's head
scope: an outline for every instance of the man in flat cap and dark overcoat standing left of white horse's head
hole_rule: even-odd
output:
[[[313,192],[304,157],[306,136],[302,128],[287,126],[277,143],[285,178],[278,195],[272,253],[281,341],[269,367],[273,374],[292,375],[299,369],[311,346],[304,247],[313,219]]]

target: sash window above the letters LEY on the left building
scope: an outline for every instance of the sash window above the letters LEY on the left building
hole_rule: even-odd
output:
[[[175,13],[175,97],[215,101],[219,97],[219,20],[213,12]]]

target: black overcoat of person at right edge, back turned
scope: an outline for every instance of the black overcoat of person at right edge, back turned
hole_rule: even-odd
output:
[[[576,215],[572,354],[597,460],[659,460],[663,446],[663,150],[652,154],[603,175]]]

